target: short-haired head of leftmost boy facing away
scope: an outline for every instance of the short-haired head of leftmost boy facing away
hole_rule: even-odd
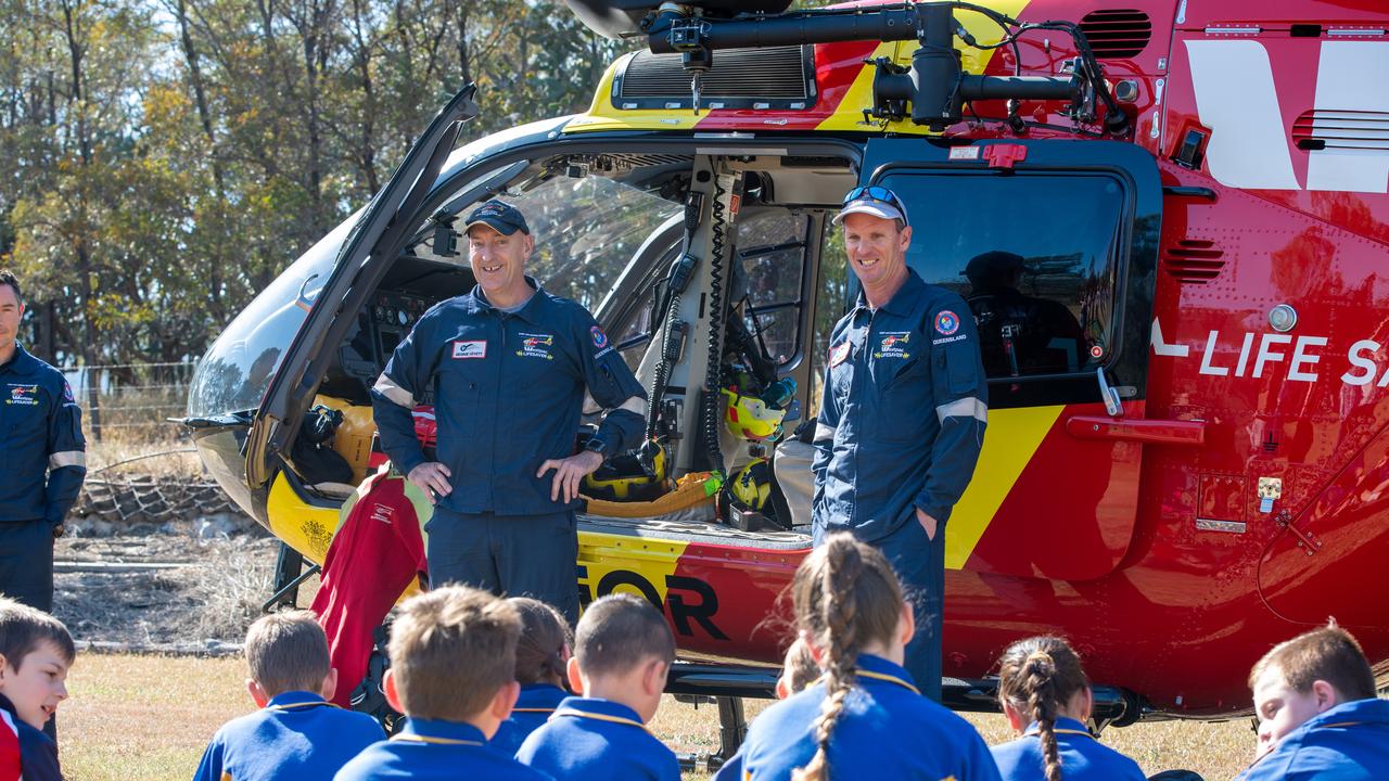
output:
[[[308,610],[261,616],[246,630],[246,663],[267,696],[322,693],[332,668],[328,635]]]

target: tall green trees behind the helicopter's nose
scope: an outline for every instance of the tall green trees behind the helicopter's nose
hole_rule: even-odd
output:
[[[68,364],[196,357],[463,85],[471,139],[629,49],[497,0],[0,0],[0,265]]]

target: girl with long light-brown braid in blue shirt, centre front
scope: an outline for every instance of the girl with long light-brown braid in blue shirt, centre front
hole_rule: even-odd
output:
[[[903,668],[913,607],[881,550],[831,535],[796,570],[792,603],[824,675],[757,717],[736,757],[745,780],[999,778],[974,727]]]

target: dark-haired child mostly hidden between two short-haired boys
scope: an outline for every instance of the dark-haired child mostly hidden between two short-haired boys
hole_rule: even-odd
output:
[[[511,709],[511,718],[501,723],[488,743],[513,756],[526,737],[554,713],[560,700],[569,696],[564,678],[574,631],[558,610],[539,599],[513,596],[507,602],[521,614],[521,639],[517,642],[521,696]]]

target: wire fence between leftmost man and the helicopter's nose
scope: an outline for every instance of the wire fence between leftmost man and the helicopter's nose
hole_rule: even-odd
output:
[[[197,361],[132,363],[60,368],[82,406],[89,442],[118,438],[132,442],[168,441],[183,428],[168,418],[183,417]]]

